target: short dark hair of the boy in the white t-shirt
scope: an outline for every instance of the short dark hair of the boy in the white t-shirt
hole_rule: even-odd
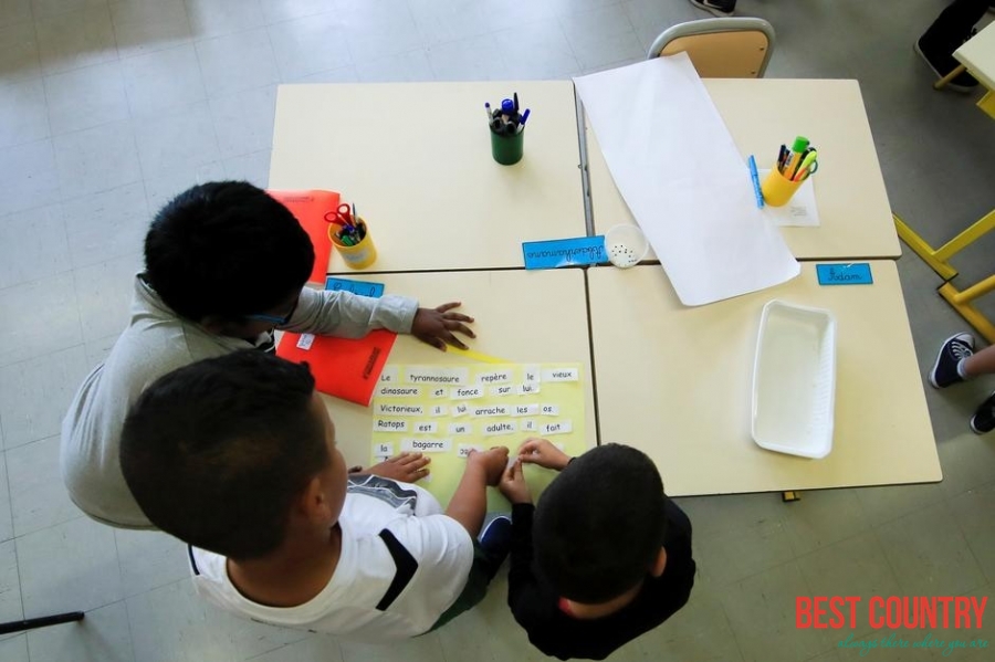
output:
[[[227,557],[283,542],[291,505],[331,462],[306,365],[244,349],[160,377],[125,420],[121,469],[168,534]]]

